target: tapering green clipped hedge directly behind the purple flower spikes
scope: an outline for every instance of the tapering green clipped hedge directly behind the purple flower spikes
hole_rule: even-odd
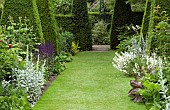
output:
[[[57,49],[58,26],[51,0],[36,0],[40,15],[42,32],[46,42],[53,42]]]

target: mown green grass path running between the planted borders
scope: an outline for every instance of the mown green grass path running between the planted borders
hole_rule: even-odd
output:
[[[112,66],[114,52],[80,52],[33,110],[146,110],[127,96],[132,78]]]

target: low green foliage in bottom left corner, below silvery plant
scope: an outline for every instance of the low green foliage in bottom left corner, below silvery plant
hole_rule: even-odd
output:
[[[6,81],[2,86],[5,94],[0,94],[1,110],[31,110],[24,90]]]

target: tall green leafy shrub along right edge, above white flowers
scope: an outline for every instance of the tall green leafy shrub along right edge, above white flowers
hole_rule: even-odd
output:
[[[151,52],[155,51],[160,56],[168,57],[170,55],[170,23],[169,16],[166,11],[160,12],[155,10],[155,27],[153,28]]]

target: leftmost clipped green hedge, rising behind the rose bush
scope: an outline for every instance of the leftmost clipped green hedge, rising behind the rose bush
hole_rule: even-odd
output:
[[[41,22],[35,0],[6,0],[1,18],[2,25],[8,25],[8,17],[12,16],[15,22],[19,17],[27,17],[34,26],[37,37],[43,38]]]

